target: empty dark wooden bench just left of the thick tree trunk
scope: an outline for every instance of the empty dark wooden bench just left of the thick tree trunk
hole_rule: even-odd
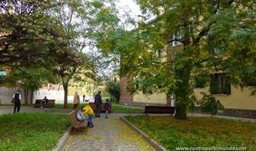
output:
[[[170,106],[145,106],[144,113],[170,113],[171,116],[175,113],[175,107]]]

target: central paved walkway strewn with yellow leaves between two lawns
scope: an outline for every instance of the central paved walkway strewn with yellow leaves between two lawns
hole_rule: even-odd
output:
[[[63,150],[150,151],[154,150],[141,135],[119,119],[123,113],[109,113],[108,118],[93,118],[93,128],[72,132]]]

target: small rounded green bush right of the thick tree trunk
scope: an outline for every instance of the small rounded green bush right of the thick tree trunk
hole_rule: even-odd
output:
[[[224,109],[222,103],[219,100],[216,100],[212,94],[201,93],[202,98],[197,101],[198,105],[201,107],[201,112],[211,113],[216,115],[218,110]]]

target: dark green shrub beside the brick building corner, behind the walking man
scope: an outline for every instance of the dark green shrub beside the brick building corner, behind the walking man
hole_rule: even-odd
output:
[[[107,81],[106,83],[106,91],[109,93],[113,98],[119,101],[120,97],[120,83],[115,80]]]

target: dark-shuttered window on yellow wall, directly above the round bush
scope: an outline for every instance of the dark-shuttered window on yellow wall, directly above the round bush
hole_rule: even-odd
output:
[[[210,82],[211,94],[230,94],[231,85],[225,76],[225,73],[216,73],[211,75]]]

